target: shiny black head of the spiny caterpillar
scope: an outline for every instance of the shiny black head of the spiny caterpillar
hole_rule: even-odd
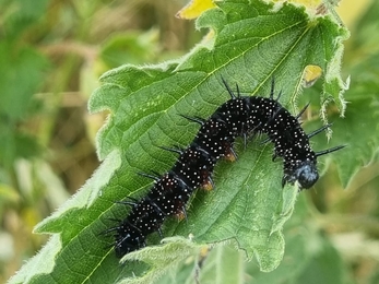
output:
[[[300,189],[311,188],[319,179],[319,173],[315,161],[306,159],[291,169],[284,169],[284,176],[282,179],[282,186],[286,182],[294,184],[297,181]]]

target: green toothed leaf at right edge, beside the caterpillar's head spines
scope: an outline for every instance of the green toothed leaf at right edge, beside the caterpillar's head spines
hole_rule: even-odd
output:
[[[346,149],[333,155],[337,165],[342,186],[348,187],[355,174],[369,163],[377,161],[379,139],[378,104],[379,97],[379,55],[372,55],[351,69],[352,88],[346,93],[350,102],[344,119],[331,114],[333,125],[333,144],[345,144]],[[316,126],[315,126],[316,127]],[[320,149],[330,147],[322,137],[313,140]]]

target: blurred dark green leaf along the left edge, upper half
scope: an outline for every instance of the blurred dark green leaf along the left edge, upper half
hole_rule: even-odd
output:
[[[4,12],[1,20],[4,35],[0,42],[0,166],[7,169],[16,158],[31,157],[39,151],[36,139],[23,129],[22,122],[37,106],[33,95],[40,87],[48,62],[37,50],[27,47],[24,39],[20,40],[15,32],[25,27],[21,23],[25,19],[31,24],[43,12],[46,1],[37,2],[0,3],[0,11]]]

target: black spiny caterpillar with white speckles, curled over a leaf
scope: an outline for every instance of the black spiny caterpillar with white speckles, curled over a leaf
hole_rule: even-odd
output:
[[[174,167],[162,177],[141,174],[155,180],[147,196],[141,200],[129,198],[129,201],[120,202],[130,205],[131,212],[119,225],[104,232],[115,232],[114,246],[118,258],[144,247],[149,234],[158,232],[162,235],[161,226],[167,216],[187,218],[186,204],[193,190],[199,187],[213,188],[215,163],[221,157],[230,161],[236,158],[233,146],[237,137],[242,137],[246,145],[248,137],[268,134],[265,142],[272,141],[275,145],[273,159],[280,156],[284,161],[282,185],[297,181],[305,189],[313,186],[319,178],[317,157],[344,146],[315,153],[309,145],[309,138],[331,125],[306,134],[298,119],[309,104],[293,117],[277,102],[281,94],[274,99],[274,82],[270,98],[240,96],[238,85],[235,95],[224,80],[223,83],[232,98],[209,119],[182,115],[201,126],[192,143],[186,150],[163,147],[179,155]]]

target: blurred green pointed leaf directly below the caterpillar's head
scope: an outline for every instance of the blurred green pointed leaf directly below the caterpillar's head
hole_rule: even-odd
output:
[[[300,211],[300,212],[299,212]],[[254,284],[281,283],[352,283],[341,256],[332,246],[322,228],[315,226],[315,214],[309,217],[309,202],[306,197],[296,203],[296,217],[286,225],[286,249],[281,265],[271,273],[258,271],[248,264],[246,271]],[[287,223],[287,224],[288,224]],[[317,223],[317,222],[316,222]]]

